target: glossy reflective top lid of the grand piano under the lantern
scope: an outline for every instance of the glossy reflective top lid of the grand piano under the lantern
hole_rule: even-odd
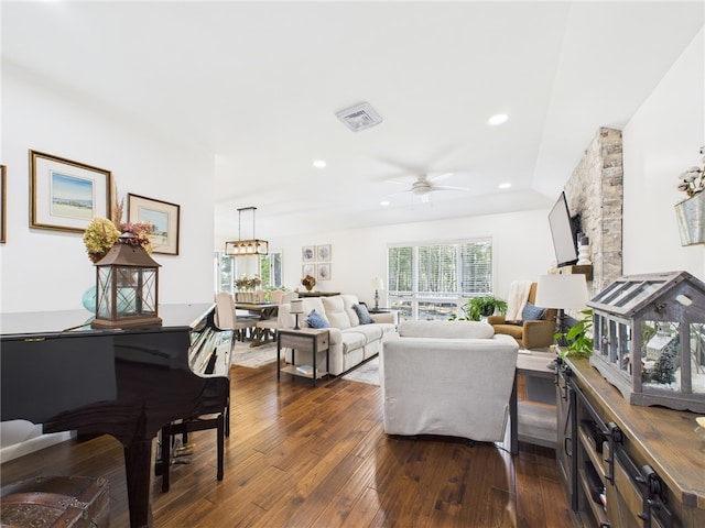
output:
[[[194,328],[206,314],[214,308],[213,302],[160,305],[159,316],[162,329]],[[105,332],[90,328],[93,316],[86,310],[26,311],[0,314],[0,333],[3,337],[33,333]],[[141,331],[140,327],[131,327],[121,331]]]

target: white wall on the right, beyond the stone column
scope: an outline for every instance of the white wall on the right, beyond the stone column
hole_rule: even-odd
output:
[[[673,206],[685,193],[676,177],[703,166],[705,43],[697,34],[622,131],[623,272],[684,270],[705,279],[705,245],[682,246]]]

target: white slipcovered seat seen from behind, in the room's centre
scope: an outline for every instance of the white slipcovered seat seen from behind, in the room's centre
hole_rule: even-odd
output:
[[[401,322],[380,354],[384,431],[503,440],[518,350],[486,322]]]

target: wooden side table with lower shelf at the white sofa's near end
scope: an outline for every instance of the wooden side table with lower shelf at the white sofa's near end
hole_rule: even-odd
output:
[[[291,365],[280,367],[282,346],[291,349]],[[318,352],[326,352],[326,369],[318,371],[316,365]],[[302,369],[304,365],[296,365],[296,351],[311,352],[312,370],[306,372]],[[294,376],[310,377],[313,380],[313,386],[316,386],[316,380],[327,376],[330,358],[328,355],[328,330],[301,328],[299,330],[282,329],[276,331],[276,381],[279,381],[282,372]]]

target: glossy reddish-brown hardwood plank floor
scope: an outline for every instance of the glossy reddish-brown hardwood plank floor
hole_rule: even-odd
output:
[[[552,450],[388,437],[379,387],[336,378],[312,388],[274,365],[234,366],[225,479],[215,431],[192,433],[171,491],[152,477],[154,527],[570,527]],[[155,442],[156,443],[156,442]],[[129,526],[122,448],[111,437],[53,446],[0,466],[3,483],[105,476],[111,526]]]

